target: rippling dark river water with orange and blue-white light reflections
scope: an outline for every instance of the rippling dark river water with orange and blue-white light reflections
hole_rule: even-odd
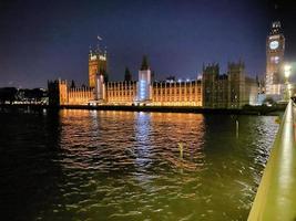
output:
[[[2,112],[1,220],[246,220],[278,125],[237,119]]]

